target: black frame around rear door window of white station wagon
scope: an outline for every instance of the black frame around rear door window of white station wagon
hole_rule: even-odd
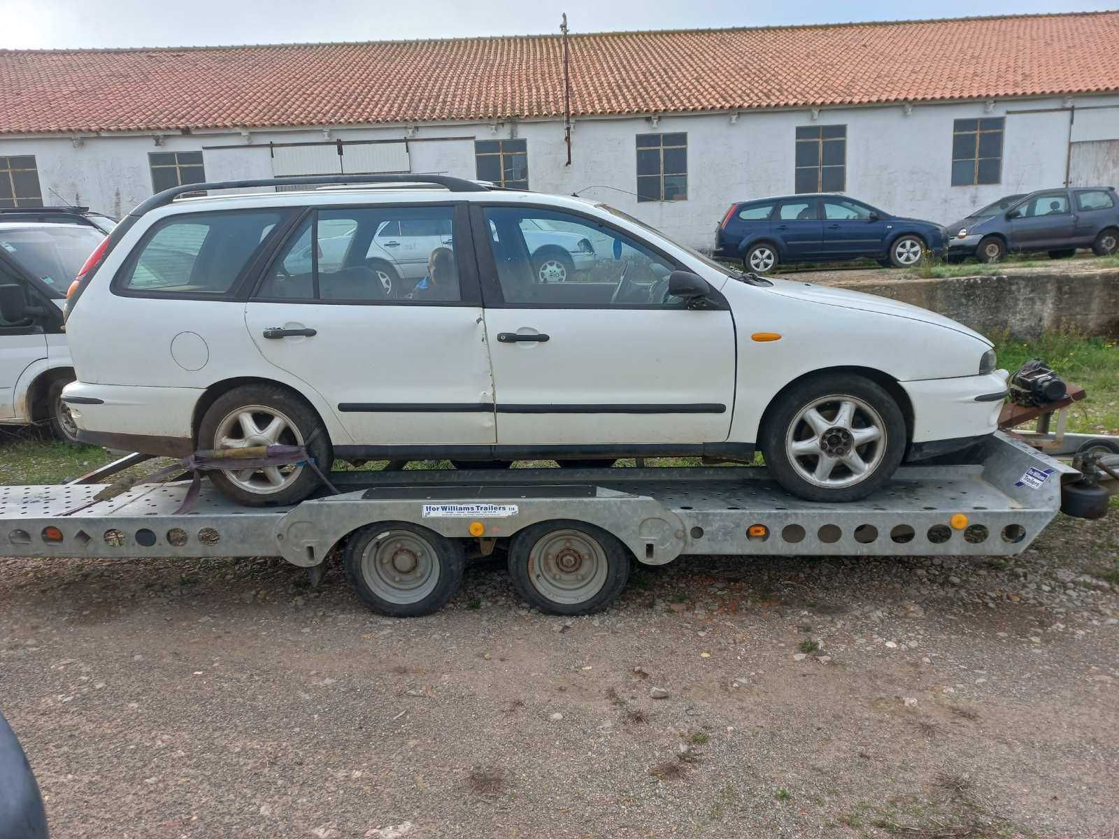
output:
[[[311,219],[311,243],[318,242],[319,210],[348,210],[348,209],[417,209],[427,207],[451,207],[451,237],[454,239],[454,255],[459,270],[459,296],[460,300],[411,300],[407,298],[395,298],[392,300],[349,300],[345,298],[330,298],[322,300],[319,298],[265,298],[260,295],[260,290],[267,279],[272,266],[284,255],[293,236],[303,226],[303,220]],[[295,224],[289,225],[282,241],[272,247],[267,258],[260,265],[252,277],[252,282],[244,299],[251,303],[294,303],[297,305],[433,305],[433,307],[470,307],[482,305],[482,293],[478,277],[478,262],[474,258],[474,239],[471,235],[469,209],[464,201],[423,201],[423,202],[385,202],[385,204],[320,204],[304,207]],[[461,235],[460,235],[461,234]],[[377,233],[374,230],[374,236]],[[372,241],[372,239],[370,239]],[[311,251],[311,264],[313,266],[312,287],[318,294],[319,286],[319,258],[318,248]]]

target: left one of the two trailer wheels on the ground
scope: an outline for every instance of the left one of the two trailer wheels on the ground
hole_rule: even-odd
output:
[[[407,521],[354,531],[342,562],[358,596],[391,618],[431,614],[462,585],[462,544]]]

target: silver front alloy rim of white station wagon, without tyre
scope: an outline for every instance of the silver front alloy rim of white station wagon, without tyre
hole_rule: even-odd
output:
[[[886,424],[862,399],[834,394],[805,405],[789,424],[786,454],[801,479],[841,489],[874,474],[886,451]]]

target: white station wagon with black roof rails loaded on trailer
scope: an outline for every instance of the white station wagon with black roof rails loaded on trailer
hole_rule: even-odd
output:
[[[743,275],[593,201],[443,176],[320,181],[336,187],[171,189],[91,255],[64,393],[83,440],[176,456],[298,444],[326,468],[760,450],[789,492],[849,501],[995,431],[1006,373],[947,318]],[[402,242],[386,230],[406,229],[430,232],[410,267],[385,255]],[[213,480],[246,505],[319,482],[300,464]]]

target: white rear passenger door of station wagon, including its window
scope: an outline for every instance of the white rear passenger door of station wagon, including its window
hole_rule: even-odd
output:
[[[368,254],[386,223],[397,230],[414,224],[446,232],[427,237],[431,251],[443,253],[432,260],[434,270],[424,268],[421,287],[403,292],[380,282],[382,257]],[[327,249],[314,246],[316,227],[333,237],[351,233],[337,264],[319,265],[318,257],[307,270],[300,254]],[[464,249],[457,246],[463,241]],[[431,255],[413,254],[425,266]],[[245,323],[264,358],[318,390],[359,449],[496,440],[481,293],[463,207],[317,210],[265,270],[245,307]]]

